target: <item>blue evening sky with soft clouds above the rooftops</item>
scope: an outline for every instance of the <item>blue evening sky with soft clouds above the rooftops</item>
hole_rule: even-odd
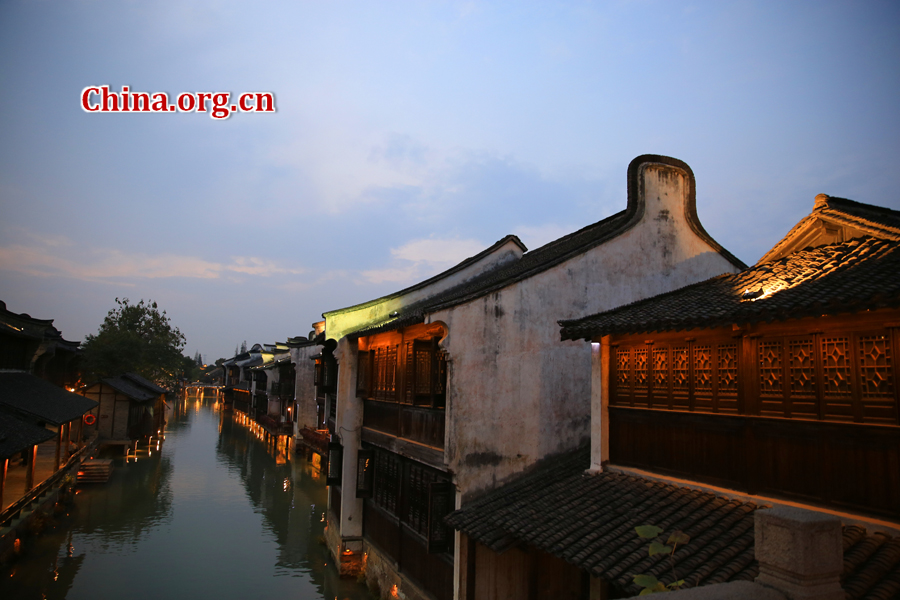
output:
[[[152,299],[211,362],[612,215],[641,154],[753,264],[816,194],[900,210],[897,31],[894,1],[3,0],[0,300],[80,341]],[[83,110],[103,85],[276,110]]]

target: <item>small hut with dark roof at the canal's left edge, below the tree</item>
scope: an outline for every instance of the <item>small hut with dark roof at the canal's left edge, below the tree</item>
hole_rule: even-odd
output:
[[[130,445],[159,435],[165,425],[167,390],[137,373],[107,377],[79,393],[97,402],[86,431],[96,431],[103,443]]]

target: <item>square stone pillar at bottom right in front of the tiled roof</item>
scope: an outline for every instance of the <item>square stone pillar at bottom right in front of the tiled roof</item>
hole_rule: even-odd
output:
[[[756,582],[791,600],[844,600],[841,522],[792,506],[756,511]]]

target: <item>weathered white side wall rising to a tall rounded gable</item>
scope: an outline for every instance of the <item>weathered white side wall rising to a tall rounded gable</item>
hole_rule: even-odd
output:
[[[737,268],[691,229],[689,179],[645,163],[643,218],[585,254],[488,296],[429,315],[449,334],[445,461],[466,496],[591,434],[591,347],[560,341],[583,317]]]

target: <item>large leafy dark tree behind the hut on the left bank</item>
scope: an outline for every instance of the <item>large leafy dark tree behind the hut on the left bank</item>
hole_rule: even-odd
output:
[[[162,386],[173,384],[183,368],[184,335],[156,302],[116,298],[116,305],[97,335],[84,340],[85,374],[101,379],[133,371]]]

